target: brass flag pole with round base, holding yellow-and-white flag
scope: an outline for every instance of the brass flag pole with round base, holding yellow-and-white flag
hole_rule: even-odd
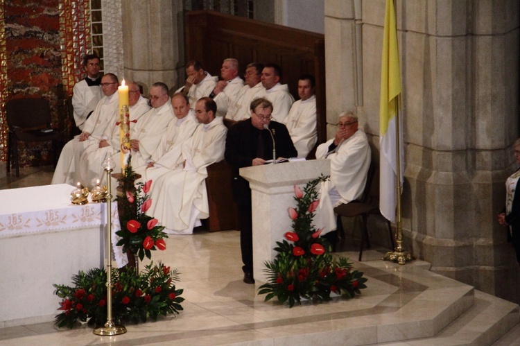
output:
[[[401,143],[399,137],[399,107],[401,107],[399,103],[399,97],[396,99],[396,110],[395,112],[395,135],[397,138],[396,141],[396,155],[397,155],[397,222],[395,224],[395,243],[396,247],[394,251],[389,251],[383,257],[383,261],[397,261],[397,263],[403,265],[406,261],[412,261],[414,259],[413,255],[410,252],[405,251],[403,248],[403,225],[401,223]]]

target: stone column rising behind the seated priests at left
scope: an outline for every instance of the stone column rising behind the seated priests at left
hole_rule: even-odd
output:
[[[182,0],[123,1],[125,78],[144,87],[155,82],[177,87],[184,38]]]

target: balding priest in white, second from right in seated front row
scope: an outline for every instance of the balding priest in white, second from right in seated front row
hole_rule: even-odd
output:
[[[171,96],[171,105],[175,117],[162,135],[157,149],[144,166],[133,167],[141,175],[140,181],[157,180],[161,175],[176,168],[182,143],[191,138],[198,126],[195,112],[189,107],[188,97],[180,92]]]

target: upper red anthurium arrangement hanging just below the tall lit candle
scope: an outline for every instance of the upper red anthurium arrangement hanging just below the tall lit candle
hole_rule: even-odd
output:
[[[122,246],[123,252],[137,254],[142,261],[145,256],[151,257],[150,250],[165,250],[164,238],[168,235],[163,232],[164,226],[157,225],[156,218],[146,215],[152,205],[152,200],[148,198],[152,180],[134,184],[136,178],[137,174],[128,164],[125,174],[119,179],[123,196],[117,197],[121,230],[116,232],[120,237],[116,245]]]

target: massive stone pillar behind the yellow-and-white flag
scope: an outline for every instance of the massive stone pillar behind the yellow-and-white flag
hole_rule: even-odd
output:
[[[330,123],[356,94],[354,2],[325,2]],[[362,6],[364,102],[356,110],[377,157],[385,1]],[[396,11],[405,245],[433,271],[519,302],[518,264],[496,223],[519,137],[518,1],[397,0]]]

